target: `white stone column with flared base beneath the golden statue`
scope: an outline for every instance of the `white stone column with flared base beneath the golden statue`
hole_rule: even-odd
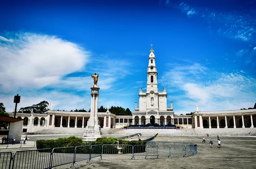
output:
[[[82,137],[83,141],[95,141],[98,137],[102,137],[102,132],[99,126],[98,119],[98,96],[99,87],[92,86],[91,88],[91,112],[90,118],[85,127],[84,135]]]

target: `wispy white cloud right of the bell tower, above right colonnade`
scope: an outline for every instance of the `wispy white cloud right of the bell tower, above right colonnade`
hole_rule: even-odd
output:
[[[176,112],[195,111],[196,104],[204,111],[248,108],[256,100],[256,79],[243,71],[216,72],[198,63],[173,65],[159,81],[183,93],[173,98]]]

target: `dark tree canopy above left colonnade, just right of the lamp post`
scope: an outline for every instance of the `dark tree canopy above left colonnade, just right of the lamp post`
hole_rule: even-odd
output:
[[[43,114],[49,110],[49,109],[47,109],[48,106],[49,106],[49,103],[44,100],[38,104],[33,104],[32,106],[21,107],[19,110],[19,113],[32,113],[33,112],[33,113]]]

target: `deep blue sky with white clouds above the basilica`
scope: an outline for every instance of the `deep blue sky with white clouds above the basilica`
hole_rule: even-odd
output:
[[[46,100],[54,109],[134,110],[152,43],[158,89],[175,114],[253,107],[256,1],[16,0],[1,3],[0,102],[11,112]],[[138,105],[139,106],[139,105]]]

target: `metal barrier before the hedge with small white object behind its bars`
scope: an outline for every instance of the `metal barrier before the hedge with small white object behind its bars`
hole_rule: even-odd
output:
[[[133,146],[132,145],[113,145],[113,144],[104,144],[102,146],[102,156],[113,156],[113,155],[122,155],[122,156],[131,156],[133,157]]]

